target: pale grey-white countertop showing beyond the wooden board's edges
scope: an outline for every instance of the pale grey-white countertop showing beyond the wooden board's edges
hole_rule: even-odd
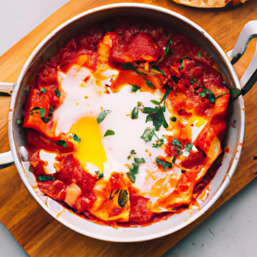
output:
[[[68,0],[0,0],[0,55],[66,2]],[[256,256],[256,195],[254,180],[164,257]],[[28,256],[1,223],[0,256]]]

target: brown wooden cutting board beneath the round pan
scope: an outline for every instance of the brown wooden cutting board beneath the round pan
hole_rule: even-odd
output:
[[[71,0],[0,57],[0,81],[15,82],[35,46],[54,28],[92,7],[119,1]],[[121,2],[121,1],[120,1]],[[243,25],[257,19],[257,1],[226,10],[200,10],[169,0],[132,1],[159,5],[176,11],[209,32],[223,47],[231,49]],[[10,32],[15,33],[15,32]],[[204,216],[171,235],[139,243],[113,243],[76,233],[53,219],[26,190],[15,166],[0,171],[0,221],[10,230],[30,256],[161,256],[205,220],[230,197],[256,177],[257,87],[244,96],[246,130],[240,163],[228,188]],[[7,113],[10,97],[0,96],[0,152],[9,150]]]

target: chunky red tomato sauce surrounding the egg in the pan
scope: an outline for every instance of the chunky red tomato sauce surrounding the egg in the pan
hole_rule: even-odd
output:
[[[86,173],[73,155],[68,154],[74,148],[71,142],[66,141],[65,148],[62,145],[56,145],[56,142],[66,139],[64,136],[56,138],[52,132],[54,126],[51,119],[52,112],[63,101],[57,82],[57,71],[66,71],[78,60],[83,62],[83,66],[95,70],[98,62],[97,46],[104,35],[110,35],[112,46],[109,65],[120,70],[117,79],[110,85],[112,92],[117,91],[124,82],[137,84],[142,90],[144,88],[149,90],[148,80],[162,92],[167,88],[171,89],[167,95],[167,101],[173,106],[178,117],[189,117],[192,112],[205,118],[212,117],[210,126],[202,132],[198,140],[196,146],[198,153],[190,153],[188,159],[181,164],[186,169],[195,169],[206,162],[206,154],[210,147],[208,142],[211,142],[214,137],[217,136],[220,141],[223,140],[229,91],[222,83],[222,75],[216,70],[207,53],[185,36],[173,32],[170,28],[145,22],[135,23],[124,20],[112,24],[86,30],[82,35],[70,40],[41,66],[30,87],[23,126],[28,141],[31,169],[36,178],[45,175],[37,152],[39,149],[63,154],[58,160],[59,171],[49,175],[53,180],[38,181],[38,186],[43,193],[78,215],[97,223],[113,226],[149,225],[185,210],[188,205],[173,204],[171,212],[153,213],[147,207],[149,199],[139,196],[130,188],[129,222],[102,221],[88,212],[96,200],[92,189],[97,176]],[[119,26],[115,27],[115,24]],[[89,58],[80,60],[78,58],[81,55],[87,55]],[[146,63],[150,64],[150,67]],[[204,90],[207,92],[205,96]],[[216,98],[212,101],[210,97]],[[33,108],[41,109],[32,111]],[[172,139],[168,140],[167,156],[178,154],[178,149],[171,144],[171,141]],[[188,143],[186,139],[182,141],[183,146],[186,143]],[[214,177],[216,170],[217,166],[211,167],[201,181],[194,183],[194,194],[200,194]],[[193,180],[190,176],[186,178]],[[82,194],[73,206],[68,206],[64,203],[64,199],[67,187],[71,183],[79,186]],[[176,190],[186,191],[187,189],[184,183],[183,186],[178,185]]]

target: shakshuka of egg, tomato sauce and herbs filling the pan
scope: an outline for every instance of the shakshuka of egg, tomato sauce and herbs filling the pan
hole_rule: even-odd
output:
[[[165,219],[194,205],[220,165],[229,89],[172,28],[128,19],[86,29],[30,85],[29,171],[91,221]]]

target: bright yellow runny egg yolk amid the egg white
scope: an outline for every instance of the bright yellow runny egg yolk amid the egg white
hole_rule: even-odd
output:
[[[83,164],[92,163],[102,171],[103,163],[107,161],[107,158],[96,118],[80,118],[71,126],[69,133],[76,134],[81,140],[75,145],[75,158]]]

